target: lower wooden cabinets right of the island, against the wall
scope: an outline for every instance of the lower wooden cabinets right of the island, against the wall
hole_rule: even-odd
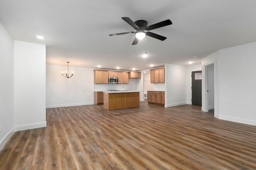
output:
[[[164,106],[164,91],[148,91],[147,95],[148,104]]]

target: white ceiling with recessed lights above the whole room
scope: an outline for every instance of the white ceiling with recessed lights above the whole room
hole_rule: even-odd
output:
[[[135,31],[121,17],[172,25],[150,31],[166,40],[132,45],[134,34],[109,36]],[[14,40],[46,44],[46,64],[144,70],[255,42],[256,0],[0,0],[0,22]]]

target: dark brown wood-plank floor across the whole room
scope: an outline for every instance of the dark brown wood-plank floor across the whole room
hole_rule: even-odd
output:
[[[46,109],[46,120],[12,135],[1,170],[256,169],[256,126],[216,119],[201,106],[62,107]]]

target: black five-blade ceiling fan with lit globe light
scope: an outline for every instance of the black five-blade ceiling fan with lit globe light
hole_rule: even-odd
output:
[[[133,22],[129,17],[122,17],[122,19],[125,22],[127,22],[130,26],[132,26],[136,30],[136,32],[122,32],[122,33],[117,33],[117,34],[109,34],[109,36],[118,36],[118,35],[122,35],[122,34],[135,33],[135,38],[134,38],[132,45],[136,45],[138,43],[138,41],[142,40],[145,36],[150,36],[150,37],[156,38],[158,40],[164,41],[166,39],[166,37],[160,36],[158,34],[154,34],[152,32],[144,32],[144,30],[147,30],[147,31],[154,30],[156,28],[160,28],[160,27],[164,27],[164,26],[168,26],[168,25],[172,24],[171,20],[165,20],[165,21],[153,24],[151,26],[147,26],[148,22],[146,22],[145,20],[138,20],[138,21]]]

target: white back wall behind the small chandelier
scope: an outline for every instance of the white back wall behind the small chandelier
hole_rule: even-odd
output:
[[[68,69],[68,65],[46,65],[46,108],[67,107],[94,104],[94,69],[72,67],[71,78],[65,78],[61,71]]]

